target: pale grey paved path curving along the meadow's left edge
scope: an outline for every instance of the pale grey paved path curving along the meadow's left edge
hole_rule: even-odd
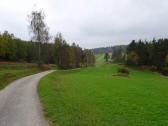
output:
[[[48,126],[43,117],[37,85],[50,72],[16,80],[0,91],[0,126]]]

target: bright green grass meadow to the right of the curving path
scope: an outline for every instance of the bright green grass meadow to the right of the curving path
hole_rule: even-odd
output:
[[[118,65],[55,71],[40,81],[45,115],[54,126],[167,126],[168,79],[130,70],[112,76]]]

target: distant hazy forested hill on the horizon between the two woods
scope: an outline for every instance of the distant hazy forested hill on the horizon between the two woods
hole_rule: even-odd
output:
[[[127,45],[117,45],[117,46],[111,46],[111,47],[100,47],[100,48],[94,48],[92,49],[92,51],[95,53],[95,54],[100,54],[100,53],[106,53],[106,52],[113,52],[113,50],[117,50],[121,48],[122,50],[126,50],[127,48]]]

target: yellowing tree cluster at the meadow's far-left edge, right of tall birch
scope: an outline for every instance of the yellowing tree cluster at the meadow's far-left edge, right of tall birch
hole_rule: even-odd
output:
[[[91,50],[82,50],[75,43],[69,45],[61,33],[55,37],[54,49],[56,64],[64,69],[94,65],[96,62]]]

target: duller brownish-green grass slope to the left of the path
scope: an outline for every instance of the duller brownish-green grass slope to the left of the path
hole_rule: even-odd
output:
[[[0,90],[13,80],[35,74],[41,70],[27,63],[0,63]]]

